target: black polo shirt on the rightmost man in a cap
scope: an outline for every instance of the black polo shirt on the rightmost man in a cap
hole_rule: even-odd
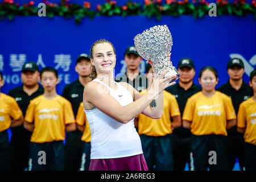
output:
[[[239,105],[241,102],[253,96],[253,89],[251,89],[251,87],[246,84],[246,82],[242,82],[241,88],[239,90],[234,89],[230,85],[229,81],[226,82],[226,84],[221,85],[217,90],[231,97],[236,114],[238,113]],[[228,129],[228,134],[238,134],[237,126]]]

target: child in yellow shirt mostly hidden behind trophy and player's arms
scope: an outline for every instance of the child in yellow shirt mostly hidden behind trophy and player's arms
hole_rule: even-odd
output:
[[[146,65],[148,87],[152,84],[152,75],[153,70],[148,63]],[[141,91],[141,94],[146,93],[147,89]],[[171,93],[163,90],[163,97],[163,115],[160,119],[152,119],[144,114],[139,114],[135,118],[135,121],[138,121],[144,158],[150,171],[154,170],[154,166],[160,171],[172,171],[174,168],[171,134],[172,130],[181,126],[180,110],[176,98]]]

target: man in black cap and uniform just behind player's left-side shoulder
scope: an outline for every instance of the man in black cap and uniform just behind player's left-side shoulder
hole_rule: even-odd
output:
[[[82,94],[84,86],[92,81],[90,78],[91,72],[90,56],[82,53],[77,57],[75,70],[79,74],[79,78],[64,87],[62,96],[71,102],[75,117],[82,102]],[[65,143],[65,169],[68,171],[79,171],[82,157],[82,148],[84,143],[81,140],[82,132],[75,130],[67,133]]]

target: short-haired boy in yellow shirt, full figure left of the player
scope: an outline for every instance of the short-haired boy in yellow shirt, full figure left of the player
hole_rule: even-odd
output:
[[[71,103],[56,93],[56,69],[43,68],[40,82],[44,94],[30,101],[24,128],[32,132],[28,170],[64,170],[65,131],[76,129]]]

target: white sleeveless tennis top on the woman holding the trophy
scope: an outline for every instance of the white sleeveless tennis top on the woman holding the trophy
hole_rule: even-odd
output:
[[[110,96],[125,106],[133,102],[133,96],[122,85],[117,84],[114,90],[97,78],[93,81],[105,85]],[[108,104],[108,103],[104,103]],[[134,119],[126,124],[120,123],[95,107],[84,110],[91,133],[91,159],[123,158],[142,154],[141,139],[134,127]]]

